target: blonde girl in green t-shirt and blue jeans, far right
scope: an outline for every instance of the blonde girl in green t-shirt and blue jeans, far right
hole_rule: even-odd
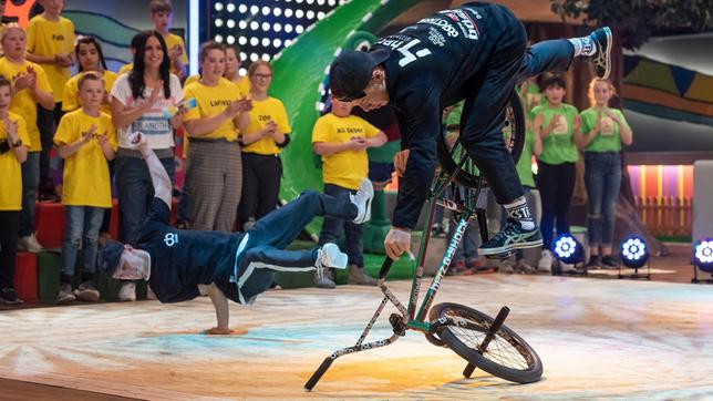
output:
[[[617,268],[611,257],[614,206],[621,186],[621,145],[631,145],[631,127],[620,110],[610,109],[616,89],[608,80],[589,84],[591,107],[581,113],[585,185],[589,199],[589,268]],[[601,246],[601,259],[599,247]]]

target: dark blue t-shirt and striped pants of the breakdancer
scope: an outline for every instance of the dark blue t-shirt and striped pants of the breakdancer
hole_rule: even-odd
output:
[[[283,250],[316,216],[345,220],[356,206],[313,191],[260,218],[247,233],[176,229],[170,210],[154,198],[135,248],[151,255],[148,285],[162,302],[180,302],[199,296],[198,285],[216,286],[226,297],[249,304],[270,287],[275,271],[314,269],[318,248]]]

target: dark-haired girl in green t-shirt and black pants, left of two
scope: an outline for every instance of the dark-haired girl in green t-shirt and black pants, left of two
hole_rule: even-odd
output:
[[[533,109],[533,126],[542,141],[542,153],[537,157],[537,186],[542,198],[540,229],[544,245],[537,268],[550,271],[554,258],[549,249],[554,228],[557,227],[558,235],[569,233],[569,206],[577,177],[575,164],[579,158],[577,145],[582,138],[579,112],[575,106],[562,102],[565,80],[551,76],[545,80],[542,86],[547,103]],[[574,266],[562,264],[564,271],[574,269]]]

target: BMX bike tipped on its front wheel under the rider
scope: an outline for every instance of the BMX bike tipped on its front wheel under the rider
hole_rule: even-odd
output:
[[[525,141],[525,114],[515,91],[506,107],[504,136],[510,155],[517,162]],[[506,306],[500,308],[495,318],[458,304],[445,302],[432,306],[441,280],[448,269],[467,225],[473,219],[478,222],[483,240],[487,240],[485,209],[477,207],[477,199],[484,187],[484,177],[459,143],[448,143],[445,133],[438,137],[441,172],[435,176],[427,198],[428,214],[424,224],[416,259],[417,268],[407,307],[404,307],[386,286],[385,278],[393,263],[386,257],[379,271],[378,285],[384,297],[376,311],[354,346],[337,350],[324,359],[304,384],[306,390],[311,391],[314,388],[337,358],[389,346],[405,336],[406,330],[421,331],[431,343],[450,348],[465,359],[467,364],[463,376],[466,378],[473,374],[475,368],[480,368],[493,376],[517,383],[540,380],[542,363],[539,357],[520,336],[504,325],[509,313]],[[448,186],[454,191],[444,196]],[[418,304],[421,280],[424,274],[423,261],[428,247],[430,228],[436,205],[452,210],[457,223],[455,234],[448,243],[431,286]],[[497,257],[505,258],[509,255],[498,255]],[[393,335],[386,339],[364,342],[388,302],[391,302],[397,310],[389,317]]]

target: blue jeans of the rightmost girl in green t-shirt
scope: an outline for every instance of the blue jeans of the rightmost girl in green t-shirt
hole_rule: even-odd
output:
[[[617,196],[621,187],[621,156],[619,152],[587,152],[585,167],[589,198],[589,246],[611,247]]]

